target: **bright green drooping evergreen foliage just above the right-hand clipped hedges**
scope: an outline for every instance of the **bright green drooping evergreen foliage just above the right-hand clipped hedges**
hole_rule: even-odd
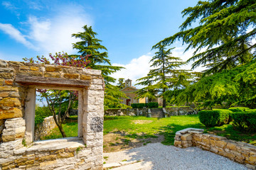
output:
[[[201,78],[197,83],[181,91],[176,97],[175,103],[183,104],[190,101],[202,103],[201,106],[220,105],[225,108],[241,104],[254,108],[256,80],[249,81],[245,75],[247,77],[254,76],[254,72],[249,74],[248,68],[256,67],[255,62],[256,60],[252,60],[252,62],[234,69]]]

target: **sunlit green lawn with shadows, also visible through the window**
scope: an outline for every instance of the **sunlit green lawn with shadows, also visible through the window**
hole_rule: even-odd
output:
[[[63,125],[67,137],[78,135],[78,125],[73,120],[67,120]],[[134,123],[134,121],[146,121],[144,124]],[[164,135],[164,145],[174,145],[175,132],[185,128],[203,128],[205,132],[214,133],[228,137],[230,140],[248,142],[256,145],[256,133],[238,132],[233,130],[232,125],[223,125],[220,127],[206,128],[200,123],[198,115],[179,115],[171,118],[146,118],[143,116],[105,116],[104,135],[110,132],[125,133],[129,138],[148,138],[156,137],[155,134]],[[54,129],[51,135],[44,137],[44,140],[60,138],[58,128]]]

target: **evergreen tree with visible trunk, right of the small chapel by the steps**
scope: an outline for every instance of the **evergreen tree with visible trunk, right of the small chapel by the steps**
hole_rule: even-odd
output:
[[[163,44],[159,44],[155,48],[158,51],[155,52],[155,56],[150,60],[152,62],[150,67],[154,67],[154,69],[150,69],[146,77],[137,79],[137,81],[140,81],[137,83],[138,85],[146,86],[137,94],[140,97],[144,97],[144,94],[154,96],[152,93],[149,93],[154,90],[156,95],[163,97],[163,107],[166,107],[166,96],[163,94],[171,88],[171,79],[174,77],[175,69],[181,67],[185,62],[181,62],[181,59],[178,57],[171,56],[171,50],[174,48],[166,50],[166,45]]]

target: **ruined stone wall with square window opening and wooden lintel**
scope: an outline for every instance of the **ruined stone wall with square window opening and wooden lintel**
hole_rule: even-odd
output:
[[[33,142],[36,89],[78,91],[78,137]],[[0,169],[102,169],[99,70],[0,60]]]

